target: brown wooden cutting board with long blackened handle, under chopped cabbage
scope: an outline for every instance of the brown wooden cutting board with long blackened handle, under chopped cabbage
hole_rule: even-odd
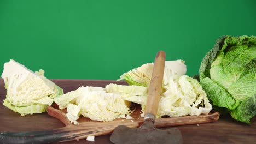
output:
[[[3,143],[53,143],[85,139],[88,136],[100,136],[111,134],[115,127],[126,125],[129,128],[138,128],[143,123],[141,114],[141,106],[135,105],[135,111],[131,113],[133,119],[117,118],[114,121],[98,122],[91,121],[89,118],[81,116],[78,119],[79,125],[71,124],[66,117],[66,110],[56,109],[56,105],[48,106],[47,113],[59,119],[65,127],[57,129],[49,129],[45,131],[19,131],[19,132],[3,132],[0,140]],[[55,107],[55,108],[54,108]],[[202,124],[216,122],[219,119],[219,112],[211,112],[208,115],[184,116],[184,117],[163,117],[156,119],[155,126],[157,128],[173,127],[178,125]]]

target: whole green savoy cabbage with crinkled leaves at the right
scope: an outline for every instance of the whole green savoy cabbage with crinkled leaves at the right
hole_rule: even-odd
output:
[[[214,109],[250,124],[256,113],[256,37],[218,39],[202,59],[199,79]]]

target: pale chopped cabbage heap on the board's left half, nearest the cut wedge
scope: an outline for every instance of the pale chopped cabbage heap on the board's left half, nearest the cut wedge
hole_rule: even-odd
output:
[[[79,87],[75,91],[54,98],[60,109],[67,107],[67,117],[78,124],[80,115],[93,121],[113,121],[125,118],[130,113],[130,101],[126,101],[119,93],[106,92],[102,87]]]

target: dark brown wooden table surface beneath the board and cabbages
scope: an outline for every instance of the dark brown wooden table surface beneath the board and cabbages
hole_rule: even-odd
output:
[[[126,85],[126,82],[116,82],[111,80],[69,80],[52,79],[64,92],[77,89],[80,86],[100,86],[104,87],[109,83]],[[6,90],[4,81],[0,79],[0,101],[3,103]],[[256,143],[256,117],[252,119],[252,124],[247,125],[237,122],[230,116],[220,116],[214,123],[200,125],[182,125],[176,128],[181,130],[184,143]],[[46,112],[41,114],[20,116],[19,113],[7,109],[0,105],[0,132],[3,131],[35,131],[51,130],[61,128],[65,125],[58,119],[49,116]],[[95,142],[69,141],[62,143],[111,143],[110,135],[97,136]]]

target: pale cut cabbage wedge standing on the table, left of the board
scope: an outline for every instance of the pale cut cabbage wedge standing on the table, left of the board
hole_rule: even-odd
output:
[[[44,76],[44,70],[34,73],[13,59],[4,63],[1,76],[7,89],[3,105],[21,116],[45,112],[53,98],[63,94],[62,88]]]

